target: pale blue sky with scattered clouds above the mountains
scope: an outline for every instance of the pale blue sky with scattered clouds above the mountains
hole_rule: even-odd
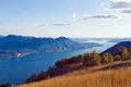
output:
[[[0,0],[0,35],[131,37],[131,0]]]

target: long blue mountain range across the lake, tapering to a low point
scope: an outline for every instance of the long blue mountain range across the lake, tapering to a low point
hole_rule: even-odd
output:
[[[1,36],[0,58],[20,58],[31,53],[85,49],[98,44],[80,44],[66,37],[36,38],[23,36]]]

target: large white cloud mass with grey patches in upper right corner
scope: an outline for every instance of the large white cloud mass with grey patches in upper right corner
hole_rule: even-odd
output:
[[[131,13],[131,0],[108,0],[100,4],[102,11],[106,14],[114,14],[105,17],[124,18],[123,13]]]

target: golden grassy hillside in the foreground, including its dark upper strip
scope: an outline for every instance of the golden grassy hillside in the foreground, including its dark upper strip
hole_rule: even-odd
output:
[[[83,69],[20,87],[131,87],[131,61]]]

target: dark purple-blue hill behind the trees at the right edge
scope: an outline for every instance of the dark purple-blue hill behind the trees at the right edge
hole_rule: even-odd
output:
[[[121,41],[114,47],[105,50],[102,54],[105,53],[118,53],[120,52],[123,48],[127,48],[128,50],[131,50],[131,41]]]

